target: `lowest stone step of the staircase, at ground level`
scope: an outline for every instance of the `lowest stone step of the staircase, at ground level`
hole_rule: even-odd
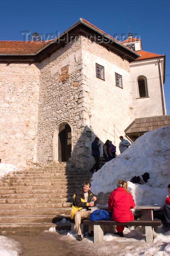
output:
[[[50,227],[54,227],[56,230],[71,230],[71,223],[1,223],[0,232],[42,232],[48,231]]]

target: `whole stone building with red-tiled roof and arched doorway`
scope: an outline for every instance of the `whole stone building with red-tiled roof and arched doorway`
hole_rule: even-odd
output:
[[[2,161],[26,166],[69,160],[89,168],[96,136],[118,149],[134,118],[165,115],[163,81],[162,92],[147,83],[149,96],[136,101],[133,82],[147,76],[134,74],[141,58],[84,19],[52,41],[0,41]]]

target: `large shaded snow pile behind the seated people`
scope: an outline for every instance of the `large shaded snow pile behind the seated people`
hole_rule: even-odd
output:
[[[150,174],[146,185],[130,182],[133,176]],[[170,126],[146,132],[124,153],[95,172],[92,177],[93,193],[112,192],[116,181],[127,180],[136,205],[163,205],[170,183]]]

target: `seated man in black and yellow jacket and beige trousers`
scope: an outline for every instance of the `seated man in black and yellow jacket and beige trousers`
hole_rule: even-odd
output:
[[[77,231],[76,239],[78,241],[82,241],[82,231],[80,228],[81,219],[90,219],[91,210],[89,210],[88,207],[95,206],[97,203],[97,199],[90,191],[90,188],[91,183],[89,181],[84,181],[82,189],[79,189],[74,193],[70,218],[74,218],[74,229]],[[92,225],[88,226],[88,230],[88,236],[93,236]]]

